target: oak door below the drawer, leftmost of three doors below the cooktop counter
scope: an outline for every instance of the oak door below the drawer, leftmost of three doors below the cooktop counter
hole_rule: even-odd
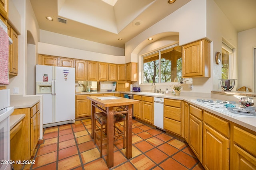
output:
[[[189,117],[189,146],[202,162],[203,122],[190,114]]]

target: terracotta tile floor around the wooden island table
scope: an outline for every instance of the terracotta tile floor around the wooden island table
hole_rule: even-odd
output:
[[[94,145],[90,135],[91,123],[84,119],[45,128],[44,141],[33,158],[35,164],[24,170],[108,170],[106,145],[100,158],[99,141]],[[114,142],[111,170],[204,170],[187,143],[134,119],[132,127],[132,158],[126,159],[120,137]]]

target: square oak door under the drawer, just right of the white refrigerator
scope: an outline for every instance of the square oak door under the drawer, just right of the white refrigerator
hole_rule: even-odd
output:
[[[76,118],[90,116],[91,115],[90,104],[91,102],[89,99],[76,100]]]

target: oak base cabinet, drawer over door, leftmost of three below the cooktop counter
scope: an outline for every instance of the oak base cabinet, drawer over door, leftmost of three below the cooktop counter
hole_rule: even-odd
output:
[[[203,111],[197,107],[189,106],[189,146],[202,162],[203,149]]]

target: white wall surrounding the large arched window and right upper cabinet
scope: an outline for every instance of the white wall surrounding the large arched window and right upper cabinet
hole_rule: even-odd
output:
[[[172,36],[168,36],[168,40],[159,39],[154,45],[148,45],[148,37],[160,34],[179,35],[179,45],[184,45],[196,41],[198,39],[207,38],[211,41],[211,77],[210,78],[194,78],[193,90],[186,88],[183,92],[189,93],[206,93],[214,90],[221,90],[219,84],[221,78],[221,66],[215,63],[215,53],[221,51],[222,38],[226,38],[230,43],[237,47],[237,32],[226,16],[215,4],[214,0],[192,0],[182,8],[176,10],[163,20],[159,21],[140,35],[134,37],[126,43],[125,56],[126,63],[140,62],[140,56],[146,51],[154,51],[159,49],[160,45],[165,47],[171,44]],[[158,44],[158,45],[156,45]],[[150,47],[150,48],[149,48]],[[141,65],[139,64],[138,74],[141,73]],[[214,70],[214,71],[213,71]],[[141,80],[141,76],[140,76]],[[153,90],[151,84],[140,84],[135,82],[142,90]],[[188,86],[188,85],[186,85]],[[166,90],[168,84],[157,84],[157,88]],[[188,94],[189,95],[189,94]]]

